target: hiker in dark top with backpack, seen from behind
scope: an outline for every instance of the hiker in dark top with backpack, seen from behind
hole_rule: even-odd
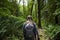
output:
[[[38,40],[38,31],[31,15],[28,15],[27,21],[23,24],[23,35],[24,40]]]

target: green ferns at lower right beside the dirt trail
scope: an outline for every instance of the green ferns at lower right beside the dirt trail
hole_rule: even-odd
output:
[[[54,38],[55,35],[57,35],[57,33],[60,32],[60,26],[58,25],[48,25],[48,27],[45,28],[46,29],[46,37],[51,38],[51,40]]]

